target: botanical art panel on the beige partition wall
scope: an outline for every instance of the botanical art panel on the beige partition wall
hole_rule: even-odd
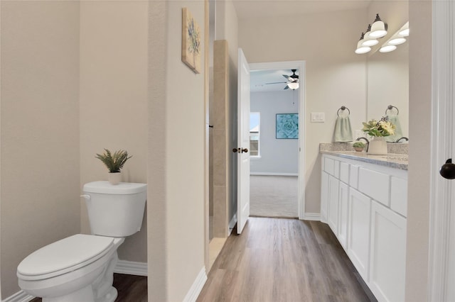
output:
[[[191,12],[182,9],[182,61],[193,72],[200,73],[200,28]]]

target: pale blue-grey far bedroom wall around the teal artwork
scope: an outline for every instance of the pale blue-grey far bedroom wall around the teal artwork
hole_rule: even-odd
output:
[[[298,91],[252,92],[250,111],[260,113],[260,157],[251,157],[252,174],[297,174],[299,140],[276,138],[276,114],[299,113]]]

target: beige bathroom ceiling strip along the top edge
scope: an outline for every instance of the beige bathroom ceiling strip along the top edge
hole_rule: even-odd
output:
[[[239,20],[366,9],[371,0],[233,0]]]

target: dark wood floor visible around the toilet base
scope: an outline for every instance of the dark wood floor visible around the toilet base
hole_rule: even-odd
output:
[[[114,287],[118,296],[115,302],[146,302],[147,277],[126,274],[114,274]],[[33,298],[31,302],[41,302],[41,298]],[[81,301],[82,302],[82,301]]]

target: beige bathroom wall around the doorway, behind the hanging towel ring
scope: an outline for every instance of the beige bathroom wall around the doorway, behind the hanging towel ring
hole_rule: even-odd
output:
[[[328,1],[328,4],[330,2]],[[319,143],[331,142],[336,111],[350,108],[353,130],[366,118],[366,57],[354,53],[368,24],[366,10],[314,13],[292,17],[251,18],[239,22],[239,47],[249,62],[306,61],[305,200],[306,213],[319,213]],[[342,25],[342,26],[341,26]],[[260,30],[258,30],[260,28]],[[310,123],[311,112],[326,113],[325,123]]]

